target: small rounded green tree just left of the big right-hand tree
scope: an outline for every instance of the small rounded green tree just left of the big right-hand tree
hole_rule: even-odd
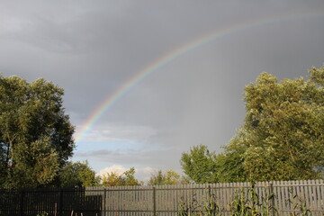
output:
[[[218,182],[216,155],[206,146],[199,145],[183,153],[181,166],[184,174],[198,184]]]

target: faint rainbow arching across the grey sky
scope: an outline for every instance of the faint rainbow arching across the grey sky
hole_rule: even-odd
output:
[[[233,34],[238,31],[244,31],[251,28],[256,28],[258,26],[262,26],[265,24],[271,23],[279,23],[283,21],[293,21],[296,19],[301,19],[305,17],[320,17],[322,18],[324,12],[311,12],[308,14],[290,14],[284,15],[281,17],[272,17],[267,18],[264,20],[258,21],[250,21],[246,23],[238,23],[234,25],[227,26],[223,29],[218,31],[212,31],[207,35],[203,35],[202,37],[192,40],[189,43],[184,44],[183,46],[172,50],[171,52],[167,53],[165,56],[161,58],[157,58],[156,61],[149,64],[144,69],[140,70],[134,76],[130,78],[126,83],[121,85],[113,94],[109,95],[103,103],[101,103],[94,112],[86,119],[85,123],[80,127],[80,130],[76,133],[75,141],[76,143],[79,142],[81,139],[85,137],[85,134],[94,127],[94,124],[100,120],[105,112],[112,108],[113,104],[116,103],[124,94],[127,94],[131,88],[135,85],[138,85],[143,79],[145,79],[150,74],[157,71],[159,68],[164,67],[166,64],[175,60],[175,58],[179,58],[180,56],[184,55],[184,53],[201,47],[202,45],[211,42],[212,40],[220,39],[224,36],[229,34]]]

